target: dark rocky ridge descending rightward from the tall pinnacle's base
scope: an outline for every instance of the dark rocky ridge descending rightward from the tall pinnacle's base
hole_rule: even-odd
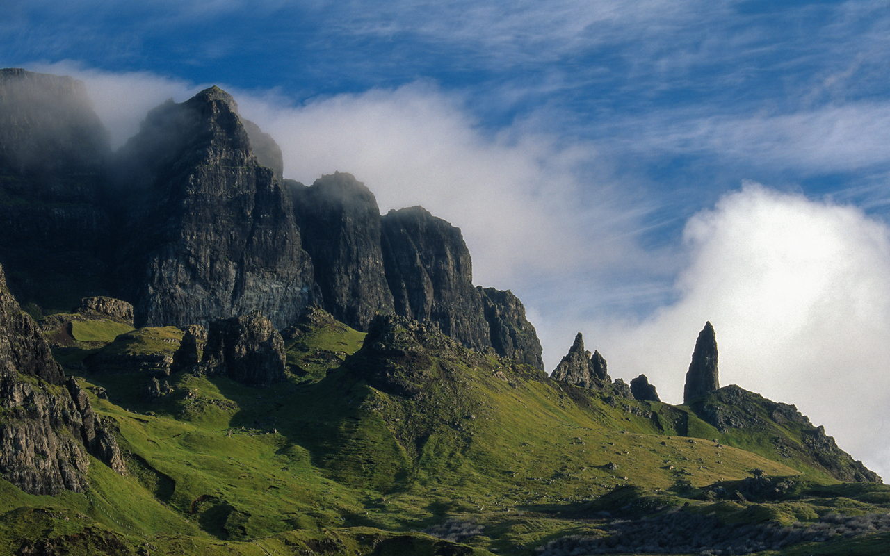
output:
[[[801,442],[783,440],[779,434],[773,436],[773,443],[783,457],[794,455],[838,480],[882,482],[877,473],[837,447],[835,439],[825,434],[825,427],[813,426],[809,417],[798,412],[795,406],[765,399],[731,384],[698,399],[692,404],[692,410],[721,432],[766,433],[776,425],[785,431],[799,431]]]

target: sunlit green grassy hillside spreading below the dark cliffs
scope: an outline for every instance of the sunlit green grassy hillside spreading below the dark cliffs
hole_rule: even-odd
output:
[[[93,488],[57,497],[0,481],[0,553],[42,539],[72,554],[531,554],[609,537],[616,520],[810,527],[890,506],[884,486],[760,449],[773,437],[755,429],[720,432],[689,407],[554,382],[403,325],[360,350],[365,334],[317,313],[285,332],[288,380],[269,388],[181,373],[150,401],[144,373],[75,372],[107,394],[93,407],[130,476],[93,461]],[[181,337],[142,329],[99,352],[170,352]],[[831,543],[877,553],[870,538]]]

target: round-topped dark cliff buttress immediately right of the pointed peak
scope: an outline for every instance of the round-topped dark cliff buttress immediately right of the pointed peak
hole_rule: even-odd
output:
[[[295,192],[304,245],[325,310],[367,330],[376,312],[392,312],[374,194],[352,174],[339,172]]]

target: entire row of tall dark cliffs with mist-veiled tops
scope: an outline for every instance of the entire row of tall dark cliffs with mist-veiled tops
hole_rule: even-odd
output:
[[[381,217],[348,173],[282,180],[278,145],[221,89],[151,110],[112,154],[82,84],[0,77],[0,262],[35,314],[110,294],[139,326],[259,310],[284,328],[319,305],[360,330],[377,312],[428,320],[543,367],[522,303],[473,286],[460,230],[419,207]]]

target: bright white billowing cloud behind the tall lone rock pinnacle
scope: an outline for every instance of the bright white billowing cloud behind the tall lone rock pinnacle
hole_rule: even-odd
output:
[[[642,322],[589,323],[613,374],[680,403],[696,335],[716,329],[720,383],[796,404],[855,457],[890,471],[890,234],[845,205],[756,183],[686,225],[679,300]]]

